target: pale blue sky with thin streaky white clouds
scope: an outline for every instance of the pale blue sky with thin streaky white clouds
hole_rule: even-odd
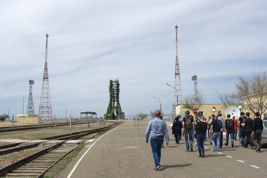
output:
[[[205,103],[218,103],[238,76],[265,70],[266,9],[265,0],[2,0],[0,115],[26,114],[29,80],[38,114],[47,33],[53,116],[103,116],[116,79],[125,115],[160,104],[171,113],[176,25],[182,96],[194,92],[196,74]]]

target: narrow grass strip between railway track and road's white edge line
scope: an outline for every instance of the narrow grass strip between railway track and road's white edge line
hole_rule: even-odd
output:
[[[66,166],[77,156],[79,151],[81,151],[85,147],[85,144],[80,144],[77,148],[75,148],[69,155],[64,157],[62,160],[58,161],[51,169],[49,169],[44,177],[45,178],[54,178],[57,177],[64,169],[66,169]]]

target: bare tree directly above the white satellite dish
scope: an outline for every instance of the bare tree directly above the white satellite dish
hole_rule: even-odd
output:
[[[230,88],[225,88],[224,92],[219,93],[217,91],[217,101],[222,103],[226,108],[233,106],[233,104],[243,103],[242,100],[236,97],[235,88],[232,90]]]

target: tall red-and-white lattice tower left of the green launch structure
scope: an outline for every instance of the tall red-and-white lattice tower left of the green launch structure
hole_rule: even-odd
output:
[[[48,80],[48,69],[47,69],[47,39],[48,34],[46,36],[46,47],[45,47],[45,70],[43,76],[43,84],[42,84],[42,93],[39,107],[39,116],[41,120],[52,120],[52,107],[51,107],[51,99],[50,99],[50,90],[49,90],[49,80]]]

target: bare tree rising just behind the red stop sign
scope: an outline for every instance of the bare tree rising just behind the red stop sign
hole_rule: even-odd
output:
[[[204,102],[204,93],[201,90],[198,90],[197,95],[195,93],[186,95],[183,101],[183,105],[184,107],[193,111],[194,109],[199,109]]]

